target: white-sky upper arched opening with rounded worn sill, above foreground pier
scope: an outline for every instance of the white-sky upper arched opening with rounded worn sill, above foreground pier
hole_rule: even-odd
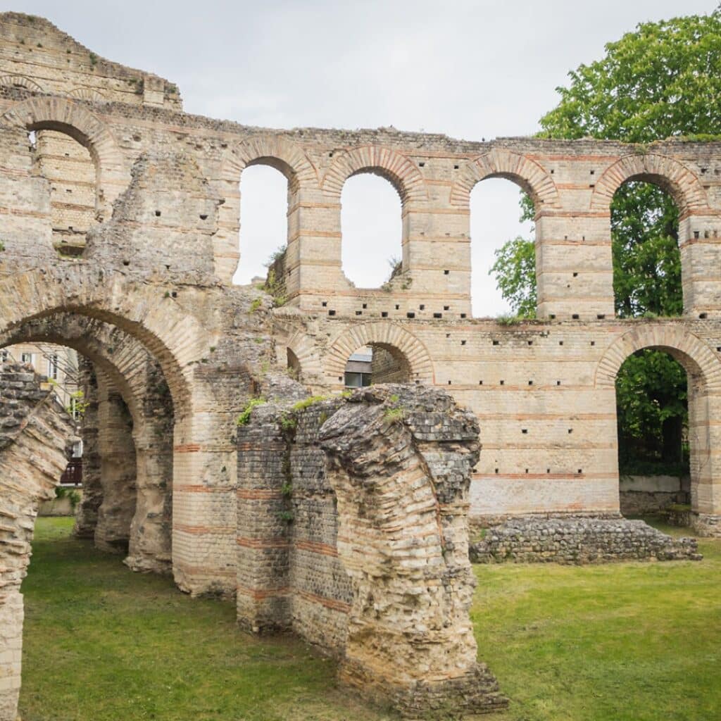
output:
[[[380,288],[402,272],[402,207],[389,180],[367,171],[345,181],[341,231],[343,273],[357,288]]]

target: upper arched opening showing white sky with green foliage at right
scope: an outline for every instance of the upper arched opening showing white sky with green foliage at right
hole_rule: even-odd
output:
[[[509,182],[510,181],[510,182]],[[474,317],[536,317],[534,206],[520,180],[489,177],[471,193]]]

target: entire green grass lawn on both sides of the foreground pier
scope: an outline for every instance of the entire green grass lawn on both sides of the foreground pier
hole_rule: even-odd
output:
[[[381,721],[291,637],[257,639],[37,522],[25,593],[23,721]],[[666,530],[666,529],[664,529]],[[479,658],[511,699],[498,721],[721,719],[721,541],[700,563],[477,566]]]

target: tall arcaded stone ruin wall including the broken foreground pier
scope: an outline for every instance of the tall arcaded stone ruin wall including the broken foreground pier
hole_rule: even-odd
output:
[[[614,379],[642,348],[686,368],[689,426],[703,429],[689,435],[692,518],[721,534],[721,143],[252,128],[182,112],[172,83],[98,58],[42,18],[1,20],[0,344],[67,342],[132,421],[132,433],[127,417],[110,423],[101,399],[89,410],[79,534],[127,544],[128,565],[172,571],[193,595],[237,595],[252,629],[350,650],[348,679],[396,694],[407,712],[440,714],[449,694],[461,709],[492,707],[464,616],[466,518],[617,514]],[[288,179],[275,298],[231,285],[239,180],[258,163]],[[340,197],[359,172],[399,193],[403,260],[384,288],[356,288],[342,272]],[[487,177],[534,200],[537,321],[469,317],[469,198]],[[680,209],[680,318],[614,318],[609,207],[634,178],[660,182]],[[368,391],[355,410],[309,407],[293,438],[278,429],[274,415],[306,392],[342,390],[349,355],[365,345],[376,381],[443,388],[471,415],[440,395],[421,409],[398,390],[409,415],[386,418],[379,407],[392,402]],[[242,438],[236,417],[254,397],[277,407],[257,409],[260,425]],[[335,424],[348,438],[325,435]],[[12,412],[0,416],[0,429],[13,428]],[[107,472],[103,481],[110,461],[119,485]],[[410,517],[420,535],[401,526],[392,538],[392,523]],[[349,529],[367,534],[367,567]],[[373,587],[387,591],[377,619]],[[401,608],[456,668],[408,625],[399,637]],[[471,678],[482,679],[479,697]]]

